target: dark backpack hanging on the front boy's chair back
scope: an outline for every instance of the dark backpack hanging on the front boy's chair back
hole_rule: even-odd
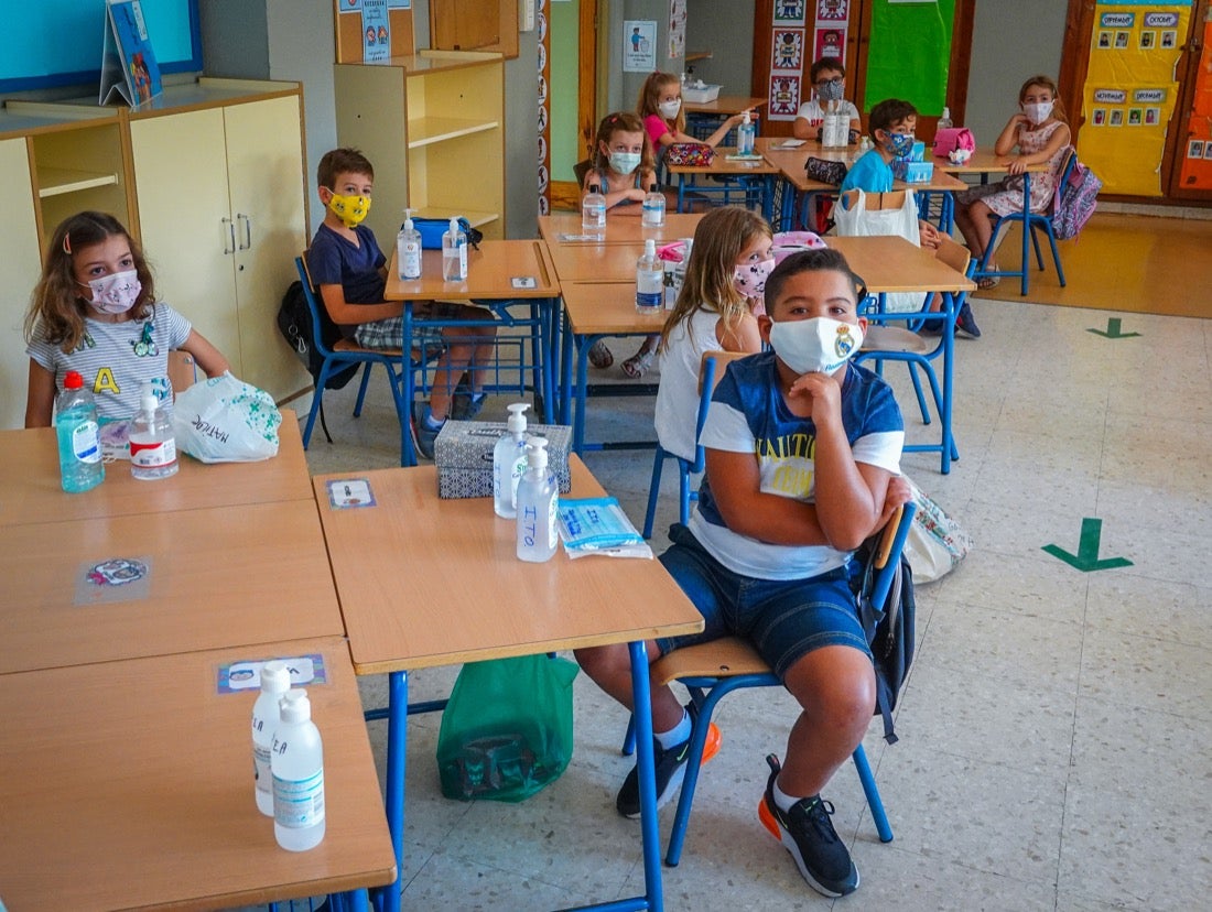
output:
[[[858,619],[875,660],[875,712],[884,717],[884,740],[896,744],[892,711],[897,707],[897,696],[909,677],[909,666],[913,665],[917,604],[913,593],[913,569],[909,567],[909,558],[902,552],[892,570],[892,585],[884,601],[884,610],[875,610],[871,592],[875,589],[875,552],[879,545],[880,538],[873,537],[856,555],[863,572],[856,580],[854,597],[858,600]]]

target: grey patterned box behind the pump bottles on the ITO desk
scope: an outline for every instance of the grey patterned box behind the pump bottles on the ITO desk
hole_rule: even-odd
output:
[[[504,421],[446,421],[434,441],[438,497],[492,497],[492,451],[508,429]],[[547,437],[548,468],[560,493],[572,491],[568,452],[572,429],[562,424],[531,424],[526,434]]]

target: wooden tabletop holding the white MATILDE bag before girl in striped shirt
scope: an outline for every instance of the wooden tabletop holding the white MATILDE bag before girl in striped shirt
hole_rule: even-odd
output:
[[[182,453],[177,474],[156,481],[136,481],[127,461],[109,463],[105,480],[96,488],[67,494],[59,486],[53,428],[0,431],[0,527],[310,500],[311,482],[298,419],[291,409],[282,409],[278,438],[278,455],[259,463],[207,465]]]

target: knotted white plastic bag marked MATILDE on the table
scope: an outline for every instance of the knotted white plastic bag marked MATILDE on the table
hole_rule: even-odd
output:
[[[177,449],[202,463],[256,463],[278,455],[281,423],[273,397],[230,372],[195,383],[172,407]]]

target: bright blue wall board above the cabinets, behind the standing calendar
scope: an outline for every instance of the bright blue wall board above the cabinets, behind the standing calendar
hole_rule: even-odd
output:
[[[161,73],[202,69],[198,0],[139,0]],[[0,93],[98,84],[105,0],[5,4]]]

